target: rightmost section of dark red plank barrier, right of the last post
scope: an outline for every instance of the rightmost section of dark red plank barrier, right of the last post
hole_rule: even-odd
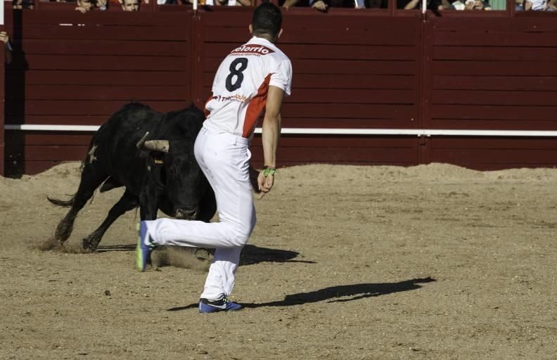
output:
[[[429,129],[557,130],[557,18],[432,18]],[[555,139],[428,140],[429,161],[474,169],[557,165]]]

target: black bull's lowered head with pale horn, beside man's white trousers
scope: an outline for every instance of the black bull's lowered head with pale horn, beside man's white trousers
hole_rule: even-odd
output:
[[[198,219],[209,184],[193,154],[193,145],[205,117],[187,108],[163,117],[153,134],[145,134],[137,147],[148,151],[148,169],[163,198],[160,209],[178,219]]]

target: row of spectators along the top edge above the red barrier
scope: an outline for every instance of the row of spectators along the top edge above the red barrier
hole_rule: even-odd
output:
[[[75,2],[75,10],[87,13],[94,9],[106,10],[109,6],[121,6],[123,11],[139,11],[141,3],[157,1],[159,5],[192,4],[193,0],[41,0]],[[251,6],[253,0],[198,0],[200,6]],[[557,0],[514,0],[515,11],[557,11]],[[310,7],[326,12],[328,8],[388,8],[388,0],[278,0],[284,8]],[[421,9],[423,0],[396,0],[397,8],[404,10]],[[427,7],[433,11],[492,10],[489,0],[427,0]],[[33,8],[32,0],[13,0],[13,8]]]

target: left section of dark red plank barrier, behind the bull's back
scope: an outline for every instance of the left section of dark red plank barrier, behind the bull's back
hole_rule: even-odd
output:
[[[8,18],[20,56],[6,73],[6,123],[98,125],[129,101],[158,111],[191,103],[191,15],[74,7],[19,11],[19,29]],[[7,131],[7,171],[82,160],[90,138]]]

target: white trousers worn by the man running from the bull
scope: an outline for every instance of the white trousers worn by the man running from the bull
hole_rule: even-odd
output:
[[[250,183],[249,141],[203,127],[194,152],[215,191],[219,222],[157,219],[145,221],[157,245],[215,248],[201,297],[219,300],[230,295],[240,252],[255,227],[255,207]]]

